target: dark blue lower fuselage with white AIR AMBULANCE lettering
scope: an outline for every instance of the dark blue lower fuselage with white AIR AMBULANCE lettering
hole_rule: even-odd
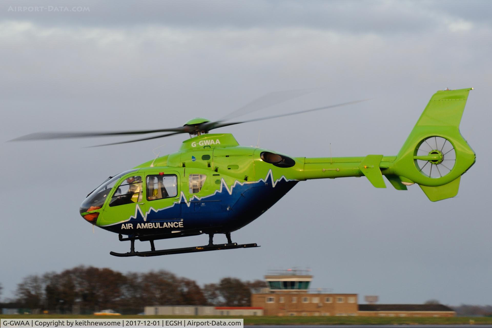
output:
[[[266,179],[236,183],[230,188],[222,182],[212,195],[189,201],[182,195],[179,202],[164,209],[136,208],[134,216],[100,227],[128,236],[159,235],[159,239],[231,232],[263,214],[297,182]]]

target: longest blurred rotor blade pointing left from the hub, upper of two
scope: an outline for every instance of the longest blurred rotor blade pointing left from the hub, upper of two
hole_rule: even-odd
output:
[[[36,132],[27,134],[22,137],[12,139],[10,141],[30,141],[30,140],[52,140],[52,139],[68,139],[68,138],[91,138],[91,137],[111,137],[132,134],[146,134],[157,132],[188,132],[187,126],[179,126],[169,129],[156,130],[134,130],[134,131],[114,131],[114,132]]]

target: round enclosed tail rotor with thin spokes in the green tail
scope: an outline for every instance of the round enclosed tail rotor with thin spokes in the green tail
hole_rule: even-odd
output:
[[[456,150],[448,139],[433,136],[422,140],[413,158],[424,176],[442,178],[453,170]]]

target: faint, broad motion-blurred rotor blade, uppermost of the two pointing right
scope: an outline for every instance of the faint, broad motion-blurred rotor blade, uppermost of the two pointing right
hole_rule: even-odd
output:
[[[259,111],[260,109],[267,108],[273,105],[281,104],[282,102],[286,102],[287,100],[291,100],[305,94],[314,92],[319,88],[311,88],[311,89],[295,89],[295,90],[283,90],[283,91],[275,91],[262,95],[259,98],[247,103],[243,107],[235,110],[234,112],[224,116],[219,119],[219,121],[224,121],[228,119],[234,119],[252,112]]]

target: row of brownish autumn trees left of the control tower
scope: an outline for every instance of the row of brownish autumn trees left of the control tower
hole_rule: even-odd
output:
[[[136,314],[147,305],[250,306],[251,291],[264,287],[262,280],[232,277],[200,287],[194,280],[166,270],[123,274],[110,268],[79,266],[25,277],[17,285],[14,303],[60,313],[111,308]]]

